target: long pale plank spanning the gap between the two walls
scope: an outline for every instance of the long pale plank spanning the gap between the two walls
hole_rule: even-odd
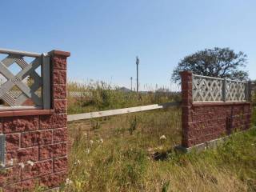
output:
[[[134,106],[129,108],[123,108],[118,110],[103,110],[103,111],[97,111],[97,112],[90,112],[85,114],[70,114],[67,116],[67,121],[76,121],[81,119],[89,119],[89,118],[101,118],[106,116],[112,116],[117,114],[129,114],[129,113],[135,113],[140,111],[146,111],[146,110],[158,110],[158,109],[165,109],[170,106],[179,106],[180,102],[166,102],[163,104],[154,104],[154,105],[148,105],[148,106]]]

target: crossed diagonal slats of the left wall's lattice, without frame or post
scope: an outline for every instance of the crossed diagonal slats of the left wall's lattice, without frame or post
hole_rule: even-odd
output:
[[[9,70],[9,66],[17,63],[22,69],[14,75]],[[35,94],[35,91],[42,86],[42,78],[36,73],[38,66],[42,65],[41,58],[34,58],[28,64],[20,55],[10,54],[0,62],[0,73],[7,79],[0,87],[0,98],[10,106],[20,106],[31,98],[36,106],[42,105],[42,99]],[[34,79],[34,84],[30,87],[23,81],[30,76]],[[17,87],[18,90],[12,90]],[[15,94],[16,95],[15,95]],[[20,94],[18,94],[20,93]],[[18,94],[18,95],[17,95]]]

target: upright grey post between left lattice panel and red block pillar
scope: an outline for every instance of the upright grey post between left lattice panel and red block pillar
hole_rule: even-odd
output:
[[[50,57],[42,55],[42,105],[50,110]]]

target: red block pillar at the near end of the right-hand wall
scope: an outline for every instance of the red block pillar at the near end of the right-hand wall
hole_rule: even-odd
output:
[[[182,78],[182,146],[191,146],[190,122],[191,122],[191,106],[192,98],[192,72],[182,71],[180,73]]]

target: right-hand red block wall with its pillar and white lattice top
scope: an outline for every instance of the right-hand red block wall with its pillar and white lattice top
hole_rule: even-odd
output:
[[[210,141],[250,127],[250,82],[181,72],[182,146],[206,147]]]

